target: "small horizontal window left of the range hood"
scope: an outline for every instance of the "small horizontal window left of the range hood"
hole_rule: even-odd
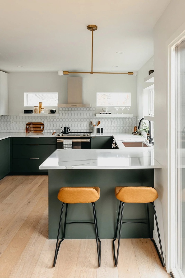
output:
[[[24,93],[24,106],[57,106],[59,103],[59,93]]]

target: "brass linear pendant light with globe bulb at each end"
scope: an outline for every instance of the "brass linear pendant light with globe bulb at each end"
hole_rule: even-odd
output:
[[[108,73],[108,74],[128,74],[128,75],[137,75],[137,73],[133,72],[93,72],[93,31],[98,29],[97,25],[88,25],[87,30],[92,31],[92,47],[91,47],[91,71],[90,72],[77,72],[77,71],[58,71],[58,75],[69,74],[69,73]]]

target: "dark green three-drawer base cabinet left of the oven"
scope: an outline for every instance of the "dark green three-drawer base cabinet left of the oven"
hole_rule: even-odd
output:
[[[39,173],[39,166],[57,149],[56,137],[13,137],[11,172]]]

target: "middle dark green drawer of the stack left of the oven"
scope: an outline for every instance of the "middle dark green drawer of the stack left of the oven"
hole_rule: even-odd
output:
[[[48,158],[56,150],[56,145],[13,145],[13,158]]]

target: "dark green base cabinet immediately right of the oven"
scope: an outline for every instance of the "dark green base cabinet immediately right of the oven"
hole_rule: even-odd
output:
[[[111,149],[113,143],[113,137],[91,137],[91,149]]]

